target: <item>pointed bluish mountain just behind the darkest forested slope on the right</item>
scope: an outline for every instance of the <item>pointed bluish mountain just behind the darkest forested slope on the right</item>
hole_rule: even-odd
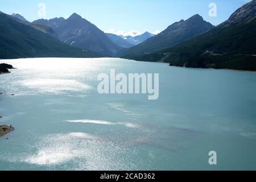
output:
[[[166,30],[162,31],[160,34],[147,39],[137,46],[129,48],[122,52],[122,55],[130,58],[134,55],[143,55],[160,51],[191,39],[193,36],[208,31],[213,27],[214,26],[209,22],[205,22],[200,15],[194,15],[187,20],[180,20],[180,22],[171,24],[171,26],[166,28]]]

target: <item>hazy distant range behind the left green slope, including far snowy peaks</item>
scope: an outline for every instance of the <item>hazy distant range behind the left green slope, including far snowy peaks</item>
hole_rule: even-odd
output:
[[[76,13],[72,14],[68,19],[62,17],[49,20],[38,19],[32,23],[18,13],[14,13],[12,16],[69,46],[89,49],[106,56],[116,56],[122,49],[132,47],[154,36],[148,32],[134,37],[104,34],[94,24]]]

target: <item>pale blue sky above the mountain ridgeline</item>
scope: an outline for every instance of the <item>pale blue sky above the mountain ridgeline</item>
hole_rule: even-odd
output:
[[[0,0],[0,11],[20,13],[27,20],[36,20],[38,4],[46,4],[46,17],[50,19],[72,13],[80,14],[103,31],[154,32],[170,24],[200,14],[217,25],[250,0]],[[210,17],[209,3],[216,3],[217,17]]]

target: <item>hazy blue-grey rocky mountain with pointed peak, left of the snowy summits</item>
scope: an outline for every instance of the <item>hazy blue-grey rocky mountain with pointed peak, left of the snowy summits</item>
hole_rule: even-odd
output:
[[[73,47],[90,49],[108,56],[114,56],[123,48],[113,43],[104,32],[76,13],[68,19],[41,19],[33,23],[47,24],[57,33],[61,42]]]

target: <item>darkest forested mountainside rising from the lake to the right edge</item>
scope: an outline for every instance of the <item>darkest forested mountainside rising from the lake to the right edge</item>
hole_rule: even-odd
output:
[[[204,34],[134,59],[163,61],[179,67],[256,71],[256,0],[246,3],[224,23]]]

